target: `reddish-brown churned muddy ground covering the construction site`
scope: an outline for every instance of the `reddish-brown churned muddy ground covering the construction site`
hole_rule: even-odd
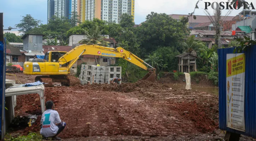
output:
[[[34,79],[19,73],[17,76],[22,76],[23,82]],[[8,75],[6,78],[12,79]],[[46,87],[45,96],[67,123],[59,135],[67,141],[217,141],[224,136],[218,129],[218,97],[211,93],[170,90],[167,85],[139,81],[121,84],[115,91],[99,84]],[[17,96],[15,114],[41,115],[39,96]],[[39,130],[40,116],[31,127],[14,132]],[[243,136],[241,140],[251,139]]]

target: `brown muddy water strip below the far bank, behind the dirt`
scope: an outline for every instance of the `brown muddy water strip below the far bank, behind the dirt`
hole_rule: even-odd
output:
[[[186,84],[166,84],[169,87],[172,87],[174,89],[186,89]],[[204,91],[204,92],[209,92],[216,94],[219,96],[219,88],[215,86],[208,86],[208,85],[197,85],[193,84],[191,85],[191,90],[198,90],[198,91]]]

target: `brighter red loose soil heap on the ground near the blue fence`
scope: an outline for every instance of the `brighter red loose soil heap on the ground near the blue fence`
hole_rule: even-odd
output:
[[[212,132],[218,125],[205,113],[205,107],[197,105],[196,102],[182,102],[175,108],[184,118],[193,121],[198,131],[202,133]]]

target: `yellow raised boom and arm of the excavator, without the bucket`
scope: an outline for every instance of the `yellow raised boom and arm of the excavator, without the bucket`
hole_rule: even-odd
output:
[[[123,58],[145,70],[147,69],[147,66],[153,68],[146,62],[144,62],[142,59],[137,57],[136,55],[130,53],[127,50],[124,50],[122,47],[118,47],[116,49],[114,48],[108,48],[108,47],[102,47],[99,45],[79,45],[75,47],[74,49],[70,50],[68,53],[60,57],[59,64],[62,65],[66,62],[70,62],[68,65],[68,68],[70,69],[71,66],[79,59],[81,55],[100,55],[100,56],[109,56],[109,57],[119,57]],[[146,64],[146,65],[144,65]]]

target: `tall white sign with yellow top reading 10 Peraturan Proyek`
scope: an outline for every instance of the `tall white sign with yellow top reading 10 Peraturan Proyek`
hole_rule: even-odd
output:
[[[227,54],[226,63],[227,127],[245,132],[245,54]]]

